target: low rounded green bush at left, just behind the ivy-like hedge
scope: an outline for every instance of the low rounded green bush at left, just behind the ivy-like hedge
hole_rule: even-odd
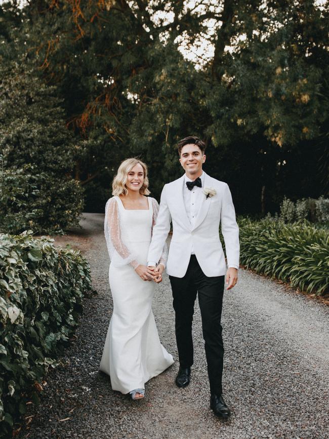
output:
[[[0,233],[62,233],[78,226],[83,210],[83,189],[72,178],[37,167],[2,169],[0,155]]]

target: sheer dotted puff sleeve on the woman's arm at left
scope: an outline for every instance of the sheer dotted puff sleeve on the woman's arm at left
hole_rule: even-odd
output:
[[[139,265],[124,242],[124,233],[120,226],[120,212],[114,197],[108,199],[105,206],[104,233],[108,254],[116,267],[130,264],[134,269]]]

